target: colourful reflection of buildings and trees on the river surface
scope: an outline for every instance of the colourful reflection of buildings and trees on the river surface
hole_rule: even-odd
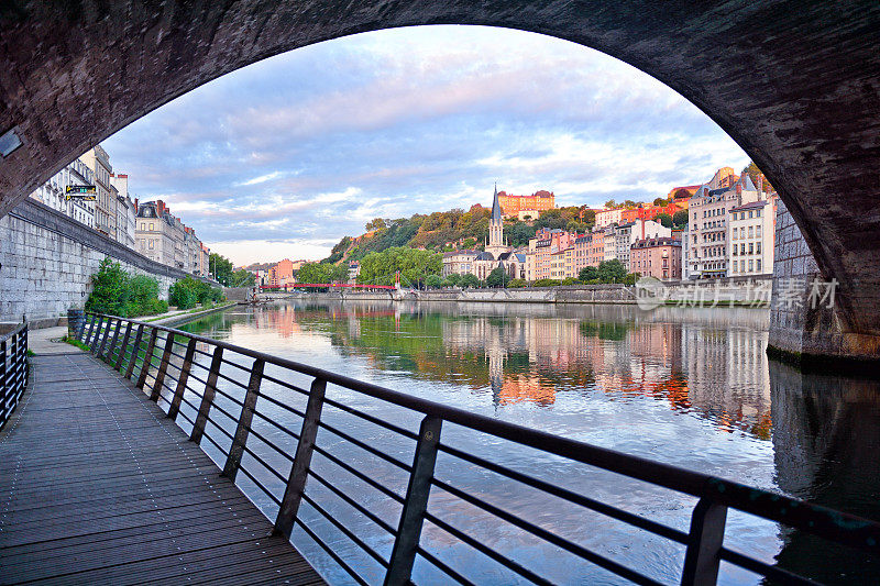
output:
[[[375,368],[487,389],[496,408],[602,392],[663,401],[727,432],[771,433],[766,318],[754,310],[361,301],[286,306],[258,320],[279,335],[327,329]]]

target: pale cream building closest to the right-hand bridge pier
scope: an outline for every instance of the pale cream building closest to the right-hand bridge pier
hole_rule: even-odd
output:
[[[730,209],[727,241],[729,277],[773,273],[776,198]]]

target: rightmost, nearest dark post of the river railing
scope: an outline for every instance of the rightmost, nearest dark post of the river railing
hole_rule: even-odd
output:
[[[714,585],[718,579],[721,550],[727,507],[702,497],[691,516],[688,551],[684,554],[682,586]]]

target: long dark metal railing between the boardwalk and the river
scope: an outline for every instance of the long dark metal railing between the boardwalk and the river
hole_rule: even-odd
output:
[[[122,346],[117,347],[117,342],[120,338],[119,334],[123,327],[127,335],[124,335]],[[138,340],[132,346],[131,352],[129,352],[129,349],[127,347],[130,339],[129,333],[135,329],[135,327],[139,332]],[[140,334],[142,330],[144,335]],[[148,335],[150,343],[144,352],[143,341],[145,341],[147,338],[147,330],[151,330]],[[158,332],[165,333],[164,340],[160,340],[157,338]],[[639,518],[626,511],[619,511],[610,505],[598,504],[593,499],[570,499],[571,502],[578,504],[582,507],[593,508],[593,510],[598,510],[605,515],[610,515],[612,517],[632,527],[640,527],[641,529],[651,531],[660,537],[672,539],[676,542],[684,542],[686,545],[686,552],[682,572],[683,584],[714,584],[717,579],[718,566],[722,559],[726,560],[728,563],[738,565],[739,567],[765,576],[779,576],[784,574],[787,579],[795,583],[809,582],[804,582],[804,578],[800,578],[793,574],[789,576],[789,574],[781,568],[769,566],[760,561],[752,560],[743,554],[726,550],[724,548],[724,528],[728,508],[748,512],[770,521],[783,523],[804,532],[813,533],[875,555],[880,554],[880,523],[869,521],[867,519],[836,511],[820,505],[813,505],[802,500],[793,499],[784,495],[760,490],[715,476],[683,469],[670,464],[653,462],[644,457],[625,454],[623,452],[617,452],[606,447],[600,447],[514,423],[498,421],[485,416],[471,413],[455,407],[436,403],[378,385],[356,380],[337,373],[331,373],[306,364],[238,346],[229,342],[213,340],[163,325],[154,325],[148,322],[91,312],[87,313],[87,319],[84,321],[82,329],[79,332],[79,338],[87,343],[87,345],[89,345],[94,352],[96,352],[96,355],[110,363],[116,369],[122,372],[125,369],[123,367],[127,366],[125,372],[127,376],[129,377],[134,376],[134,373],[138,371],[135,363],[141,360],[141,372],[138,379],[138,386],[150,392],[151,399],[154,401],[158,400],[163,388],[167,389],[169,392],[173,392],[173,400],[165,398],[165,400],[172,406],[170,410],[168,411],[168,416],[173,418],[176,418],[180,406],[180,399],[183,399],[183,394],[188,388],[186,386],[186,378],[187,376],[191,376],[188,373],[190,365],[194,363],[194,355],[196,353],[195,344],[204,343],[213,347],[211,366],[208,368],[209,375],[205,385],[205,392],[201,395],[200,405],[196,408],[197,414],[193,423],[190,439],[196,442],[199,442],[202,436],[210,440],[211,443],[218,446],[218,449],[228,456],[226,466],[223,467],[223,474],[226,476],[234,480],[237,472],[241,469],[263,491],[265,491],[272,500],[279,505],[280,510],[276,520],[276,529],[288,538],[295,524],[299,524],[308,534],[312,534],[297,515],[298,508],[302,500],[309,504],[314,510],[322,510],[320,509],[320,506],[316,506],[312,497],[305,496],[307,478],[309,475],[314,475],[314,473],[311,473],[309,469],[312,452],[322,454],[331,462],[334,462],[343,467],[343,469],[348,469],[353,475],[361,477],[364,482],[374,484],[374,480],[365,478],[359,471],[342,463],[342,461],[332,457],[329,452],[315,444],[319,428],[333,430],[332,427],[328,427],[326,422],[321,421],[322,406],[327,403],[336,408],[336,405],[341,405],[332,399],[324,400],[323,396],[328,384],[337,385],[361,392],[367,397],[380,399],[382,401],[422,413],[425,418],[421,422],[419,433],[414,434],[409,432],[400,433],[403,430],[399,428],[395,429],[396,425],[393,424],[383,425],[385,422],[378,420],[378,418],[367,413],[361,413],[356,409],[345,409],[344,407],[342,409],[354,417],[360,417],[364,421],[383,425],[385,429],[396,432],[398,436],[405,436],[409,441],[411,441],[414,438],[416,439],[416,451],[414,454],[413,465],[409,466],[408,464],[404,464],[404,469],[408,472],[409,486],[407,488],[406,497],[403,498],[404,507],[403,511],[400,512],[399,527],[395,533],[395,544],[392,556],[387,561],[386,584],[406,584],[410,581],[413,563],[417,555],[417,551],[421,550],[419,540],[422,523],[425,519],[436,519],[436,517],[427,511],[428,495],[431,490],[431,486],[446,487],[446,491],[448,494],[458,496],[464,501],[468,501],[468,496],[463,491],[450,491],[449,485],[438,482],[438,479],[433,476],[435,462],[439,453],[448,454],[446,457],[457,457],[457,450],[447,449],[442,443],[440,443],[441,428],[442,424],[447,422],[455,423],[471,430],[561,456],[571,461],[572,463],[586,464],[696,497],[698,501],[693,510],[691,528],[688,533],[679,532],[678,530],[673,530],[672,528],[668,528],[657,523],[656,521]],[[174,365],[175,368],[177,368],[180,373],[180,375],[178,375],[179,378],[177,379],[177,384],[166,385],[165,379],[173,378],[173,372],[168,371],[170,355],[173,354],[174,356],[179,357],[179,355],[170,353],[170,347],[175,343],[174,340],[179,338],[184,338],[188,341],[188,351],[186,356],[183,358],[183,366]],[[106,350],[108,342],[110,345],[109,349]],[[117,352],[116,360],[113,360],[114,351]],[[224,361],[224,352],[232,352],[242,356],[251,357],[254,360],[254,365],[248,368],[241,364],[233,364],[229,361]],[[208,355],[208,353],[201,351],[198,353]],[[124,365],[123,356],[127,355],[130,355],[128,358],[130,363]],[[155,362],[156,357],[160,357],[158,363]],[[278,499],[275,495],[273,495],[268,488],[256,480],[256,478],[241,465],[241,456],[244,452],[255,455],[246,446],[251,427],[251,418],[254,413],[260,414],[261,418],[268,420],[274,425],[286,430],[286,428],[284,428],[280,423],[270,420],[268,416],[265,413],[258,412],[258,398],[265,397],[268,399],[266,395],[261,394],[260,382],[263,378],[267,380],[274,380],[271,376],[263,374],[264,365],[270,364],[314,378],[311,388],[308,391],[308,405],[305,409],[305,413],[302,413],[305,416],[302,418],[302,428],[299,433],[295,433],[293,431],[289,432],[295,438],[298,438],[298,441],[296,444],[296,455],[293,458],[294,462],[290,469],[290,476],[287,479],[287,487],[282,499]],[[221,374],[220,369],[223,367],[223,365],[235,366],[235,372]],[[241,373],[238,373],[239,369]],[[146,388],[147,374],[153,376],[151,389]],[[231,400],[231,403],[234,406],[233,408],[241,408],[241,414],[238,419],[238,428],[234,435],[218,427],[218,429],[220,429],[220,431],[223,433],[223,438],[220,439],[220,442],[232,439],[232,444],[230,445],[229,450],[224,452],[223,449],[220,447],[220,444],[217,440],[206,435],[206,423],[208,421],[213,423],[213,421],[210,419],[210,412],[212,408],[220,410],[226,418],[232,418],[231,413],[229,413],[226,409],[221,409],[219,406],[216,406],[215,400],[216,394],[223,399],[231,399],[231,397],[226,392],[218,391],[217,385],[219,378],[233,380],[232,377],[235,376],[235,374],[249,374],[250,380],[248,382],[246,386],[244,383],[237,383],[245,391],[244,399],[242,401]],[[184,401],[188,403],[188,401],[185,399]],[[276,400],[270,399],[270,402],[276,402]],[[299,411],[294,410],[294,412]],[[233,423],[235,423],[234,420]],[[255,433],[255,435],[257,439],[261,438],[261,435],[257,433]],[[387,456],[375,446],[370,446],[345,433],[336,433],[334,435],[345,442],[346,445],[358,446],[358,449],[365,450],[373,455],[378,455],[388,462],[397,462],[396,458]],[[273,445],[273,447],[277,449],[275,445]],[[283,475],[279,474],[278,471],[268,467],[267,463],[263,458],[257,457],[257,461],[264,467],[267,467],[276,478],[283,478]],[[469,462],[471,464],[480,465],[481,458],[472,457],[469,460]],[[486,463],[486,465],[482,465],[482,467],[483,469],[493,472],[498,472],[499,469],[504,468],[503,466],[494,463]],[[513,474],[507,474],[508,478],[514,478],[519,483],[525,483],[547,495],[557,493],[553,489],[548,489],[547,483],[543,480],[532,478],[531,476],[527,476],[515,471],[509,472]],[[502,474],[505,473],[502,472]],[[488,507],[488,510],[496,518],[507,522],[513,521],[515,527],[527,530],[528,532],[550,544],[557,545],[564,551],[576,552],[575,554],[583,560],[593,562],[605,568],[610,568],[610,571],[628,579],[642,582],[641,578],[644,576],[630,568],[622,566],[617,562],[602,557],[594,552],[588,552],[580,545],[568,542],[559,535],[548,533],[546,530],[537,528],[528,522],[517,521],[515,516],[509,512],[502,511],[501,509],[494,507]],[[438,523],[435,522],[435,524]],[[343,533],[345,531],[348,530],[343,530]],[[453,531],[459,530],[453,529]],[[679,539],[679,534],[686,535],[686,538]],[[355,544],[358,544],[356,541]],[[367,553],[372,555],[371,552],[367,551]],[[336,559],[336,556],[333,557]],[[429,560],[429,557],[425,555],[422,555],[422,557],[425,560]],[[507,560],[504,556],[501,557],[503,560]],[[513,564],[513,562],[510,563]],[[433,565],[441,571],[443,570],[438,564]],[[341,566],[343,568],[349,568],[349,566],[345,564],[341,564]],[[509,567],[516,571],[515,567],[520,566],[514,564]],[[448,572],[447,574],[452,576],[452,574]],[[531,572],[526,572],[526,574],[528,576],[532,576]],[[354,577],[360,582],[360,576]],[[543,581],[543,578],[540,578],[538,582],[541,581]]]

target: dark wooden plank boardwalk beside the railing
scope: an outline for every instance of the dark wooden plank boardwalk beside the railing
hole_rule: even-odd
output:
[[[0,432],[0,584],[323,584],[130,382],[86,353],[31,364]]]

